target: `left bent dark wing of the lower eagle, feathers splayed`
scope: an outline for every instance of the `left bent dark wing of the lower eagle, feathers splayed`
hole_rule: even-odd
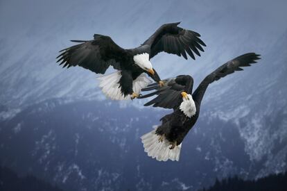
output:
[[[157,95],[155,99],[144,104],[144,106],[153,105],[153,107],[161,108],[177,108],[182,102],[181,92],[191,93],[191,86],[193,85],[193,79],[191,76],[177,76],[176,78],[168,78],[164,80],[164,86],[160,87],[158,83],[151,83],[147,88],[143,88],[142,91],[155,90],[150,94],[143,95],[139,99],[146,97],[152,97]]]

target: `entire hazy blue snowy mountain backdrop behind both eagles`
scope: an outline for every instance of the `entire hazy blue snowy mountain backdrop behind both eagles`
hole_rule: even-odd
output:
[[[287,25],[277,1],[0,1],[0,165],[63,190],[198,190],[216,178],[254,179],[287,169]],[[137,47],[164,23],[202,35],[196,60],[160,53],[162,78],[195,87],[227,60],[261,60],[209,86],[179,162],[158,162],[140,136],[171,110],[111,101],[97,75],[55,63],[69,40],[110,35]],[[112,70],[110,70],[112,72]]]

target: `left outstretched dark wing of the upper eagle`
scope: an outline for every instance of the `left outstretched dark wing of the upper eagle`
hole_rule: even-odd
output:
[[[97,74],[105,74],[110,65],[114,69],[121,69],[121,63],[127,58],[128,52],[119,47],[114,41],[104,35],[94,35],[94,40],[71,40],[82,42],[73,47],[63,49],[57,58],[63,67],[79,65]]]

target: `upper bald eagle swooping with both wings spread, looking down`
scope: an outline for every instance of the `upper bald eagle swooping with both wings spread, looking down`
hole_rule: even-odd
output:
[[[107,68],[112,66],[116,72],[98,78],[103,93],[111,99],[134,99],[151,82],[144,73],[162,85],[150,63],[150,58],[157,53],[165,51],[185,59],[188,53],[195,59],[193,53],[200,56],[199,51],[204,51],[202,46],[205,43],[200,40],[200,35],[180,28],[178,24],[180,22],[162,25],[135,49],[123,49],[110,37],[98,34],[94,35],[94,40],[71,40],[80,44],[60,51],[62,53],[57,57],[57,62],[67,68],[79,65],[96,74],[105,74]]]

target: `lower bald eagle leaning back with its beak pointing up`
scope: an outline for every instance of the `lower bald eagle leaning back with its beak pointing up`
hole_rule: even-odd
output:
[[[155,99],[146,103],[145,106],[153,105],[154,107],[173,108],[173,113],[160,119],[162,125],[141,136],[144,151],[148,153],[148,156],[159,161],[168,159],[178,161],[182,140],[198,119],[200,103],[208,85],[228,74],[243,70],[241,67],[247,67],[252,63],[256,63],[256,60],[260,59],[259,56],[256,53],[246,53],[230,60],[209,74],[194,92],[192,92],[193,78],[189,75],[168,78],[164,80],[162,87],[153,83],[144,88],[143,91],[155,91],[139,98],[157,95]]]

